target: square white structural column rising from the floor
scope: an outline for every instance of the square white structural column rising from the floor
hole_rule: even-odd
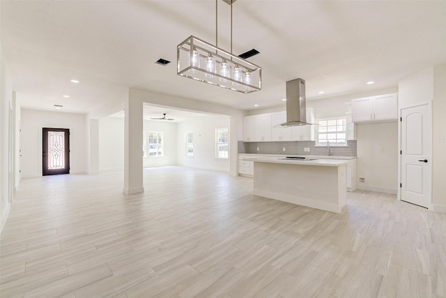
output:
[[[125,100],[123,193],[144,193],[142,159],[143,103]]]

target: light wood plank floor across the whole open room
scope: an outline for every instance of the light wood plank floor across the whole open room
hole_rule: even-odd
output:
[[[341,214],[186,167],[24,179],[0,297],[446,297],[446,214],[348,193]]]

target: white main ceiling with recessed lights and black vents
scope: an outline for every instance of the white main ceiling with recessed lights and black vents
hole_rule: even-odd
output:
[[[180,42],[194,35],[215,43],[214,0],[0,6],[1,44],[22,105],[93,117],[121,110],[129,87],[252,110],[284,105],[285,82],[297,77],[311,100],[397,86],[446,62],[446,1],[238,0],[233,53],[261,52],[248,59],[262,67],[262,90],[253,94],[176,75]],[[230,6],[218,6],[218,46],[230,50]],[[159,58],[172,63],[159,66]]]

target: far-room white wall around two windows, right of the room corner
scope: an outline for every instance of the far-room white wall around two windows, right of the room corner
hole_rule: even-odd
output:
[[[230,117],[228,116],[209,116],[179,123],[178,165],[229,172],[229,160],[215,158],[215,129],[229,128],[229,125]],[[187,131],[194,133],[193,157],[185,156],[185,133]],[[231,146],[231,144],[229,145]]]

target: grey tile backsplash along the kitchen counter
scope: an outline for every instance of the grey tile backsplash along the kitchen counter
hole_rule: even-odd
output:
[[[238,141],[239,154],[327,155],[326,147],[314,147],[314,141],[243,142]],[[347,141],[347,147],[330,147],[334,156],[356,156],[356,141]],[[259,151],[257,151],[259,148]],[[285,148],[285,151],[284,151]],[[309,148],[309,152],[304,151]]]

